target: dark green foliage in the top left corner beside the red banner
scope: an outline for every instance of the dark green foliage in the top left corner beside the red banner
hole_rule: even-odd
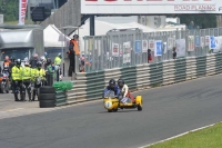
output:
[[[4,21],[19,19],[19,0],[6,0],[6,4],[0,0],[0,13],[4,14]]]

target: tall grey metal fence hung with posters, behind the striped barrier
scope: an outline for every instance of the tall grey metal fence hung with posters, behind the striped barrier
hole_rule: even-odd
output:
[[[140,29],[111,30],[84,37],[84,72],[155,63],[222,51],[222,28],[144,33]],[[148,51],[150,49],[150,52]]]

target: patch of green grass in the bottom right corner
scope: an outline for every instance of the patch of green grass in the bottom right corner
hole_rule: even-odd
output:
[[[222,148],[222,124],[147,148]]]

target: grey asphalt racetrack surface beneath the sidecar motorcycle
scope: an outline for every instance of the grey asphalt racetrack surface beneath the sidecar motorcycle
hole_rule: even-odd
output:
[[[102,101],[0,119],[0,148],[137,148],[222,120],[222,76],[137,92],[143,111]]]

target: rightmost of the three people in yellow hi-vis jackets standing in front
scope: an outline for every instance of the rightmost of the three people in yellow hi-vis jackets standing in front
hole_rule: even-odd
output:
[[[46,81],[46,71],[42,68],[42,63],[40,61],[37,62],[37,69],[33,69],[33,80],[34,80],[34,89],[32,91],[32,101],[34,101],[37,96],[37,90],[40,88],[40,85],[37,85],[37,78],[41,78],[42,81]]]

